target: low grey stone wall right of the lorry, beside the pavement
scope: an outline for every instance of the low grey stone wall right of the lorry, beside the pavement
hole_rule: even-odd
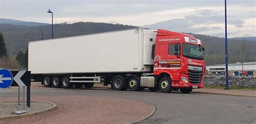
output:
[[[230,76],[228,84],[231,87],[256,87],[256,79],[252,76]],[[226,86],[225,75],[205,75],[205,86]]]

